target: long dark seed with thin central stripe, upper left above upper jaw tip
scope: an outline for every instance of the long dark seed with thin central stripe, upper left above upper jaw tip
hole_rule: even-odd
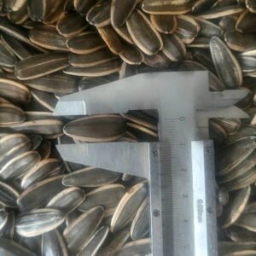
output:
[[[36,79],[65,67],[68,67],[68,56],[65,53],[33,55],[17,63],[15,75],[20,80]]]

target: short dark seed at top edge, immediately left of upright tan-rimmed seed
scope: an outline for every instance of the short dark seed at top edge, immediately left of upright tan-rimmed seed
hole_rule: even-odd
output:
[[[91,7],[86,15],[86,20],[90,25],[96,27],[108,26],[110,24],[111,0],[98,0]]]

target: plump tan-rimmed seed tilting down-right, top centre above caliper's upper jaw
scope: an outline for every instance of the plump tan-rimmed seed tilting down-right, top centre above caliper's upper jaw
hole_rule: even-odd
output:
[[[141,11],[135,10],[126,20],[126,26],[137,47],[146,55],[154,55],[163,48],[159,32]]]

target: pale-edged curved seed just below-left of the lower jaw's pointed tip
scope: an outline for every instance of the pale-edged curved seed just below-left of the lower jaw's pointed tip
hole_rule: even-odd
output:
[[[34,183],[38,183],[45,177],[52,177],[61,174],[61,162],[55,158],[41,160],[33,166],[22,178],[21,187],[26,189]]]

